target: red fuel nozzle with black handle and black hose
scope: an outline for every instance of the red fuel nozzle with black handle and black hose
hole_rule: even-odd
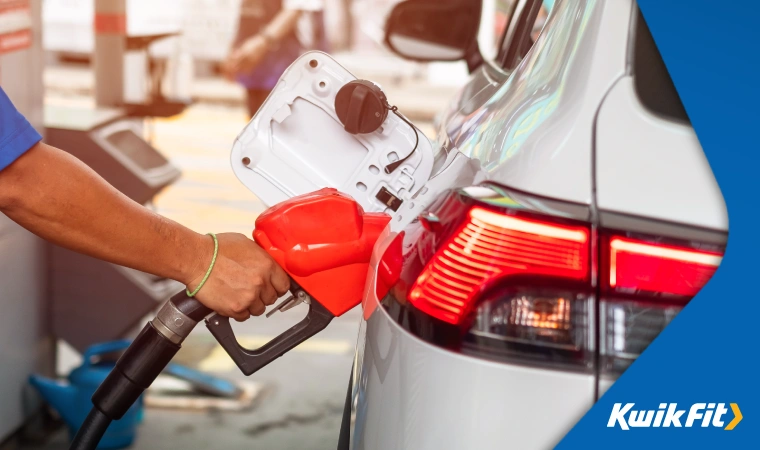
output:
[[[145,325],[95,392],[93,408],[70,449],[96,448],[111,421],[124,415],[204,319],[245,375],[322,331],[361,302],[372,248],[389,221],[387,214],[365,213],[351,197],[330,188],[269,208],[256,220],[254,240],[291,277],[291,296],[272,312],[306,302],[306,317],[262,347],[247,349],[238,344],[228,317],[214,314],[184,291],[175,295]]]

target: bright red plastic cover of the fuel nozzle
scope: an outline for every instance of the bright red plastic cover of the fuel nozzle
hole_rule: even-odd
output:
[[[328,188],[269,208],[256,220],[253,237],[337,317],[361,302],[372,248],[389,221]]]

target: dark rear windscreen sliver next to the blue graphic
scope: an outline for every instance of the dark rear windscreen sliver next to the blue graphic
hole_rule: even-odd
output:
[[[641,11],[636,20],[636,41],[633,53],[633,76],[636,93],[644,106],[655,114],[681,122],[689,122],[681,98],[668,74],[665,62],[654,43],[652,33]]]

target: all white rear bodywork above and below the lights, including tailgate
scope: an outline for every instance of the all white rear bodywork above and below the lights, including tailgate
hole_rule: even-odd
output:
[[[694,235],[727,230],[725,203],[693,128],[654,116],[638,101],[628,59],[635,3],[567,1],[557,8],[506,80],[489,67],[474,75],[441,115],[440,132],[482,165],[481,176],[510,188],[653,227],[668,223],[665,234],[682,225]],[[538,55],[552,50],[553,61]],[[376,259],[391,238],[376,247]],[[364,307],[353,449],[547,448],[614,383],[423,342],[379,305],[373,269]]]

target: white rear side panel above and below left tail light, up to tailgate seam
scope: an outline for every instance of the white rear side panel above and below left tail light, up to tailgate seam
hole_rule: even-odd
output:
[[[511,75],[499,80],[489,67],[474,75],[456,112],[442,115],[441,131],[491,181],[591,205],[592,130],[606,92],[625,75],[633,6],[555,8]],[[390,239],[378,243],[375,261]],[[546,448],[596,400],[593,373],[494,363],[410,335],[379,305],[374,267],[357,343],[351,448]]]

